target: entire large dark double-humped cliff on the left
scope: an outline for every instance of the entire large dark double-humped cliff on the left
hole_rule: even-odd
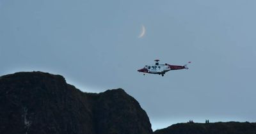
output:
[[[146,112],[122,89],[82,93],[60,75],[0,77],[0,133],[152,133]]]

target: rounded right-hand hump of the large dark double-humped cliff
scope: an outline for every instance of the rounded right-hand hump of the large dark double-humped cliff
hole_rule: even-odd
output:
[[[97,104],[97,133],[152,133],[146,112],[124,90],[100,93]]]

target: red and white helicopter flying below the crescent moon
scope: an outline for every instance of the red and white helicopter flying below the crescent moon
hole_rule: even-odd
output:
[[[191,61],[189,61],[188,64],[185,64],[184,66],[180,66],[180,65],[171,65],[167,63],[159,64],[159,61],[160,61],[159,59],[156,59],[154,61],[156,61],[156,64],[146,65],[144,68],[138,71],[142,72],[143,75],[145,75],[145,73],[152,73],[152,74],[158,74],[158,75],[164,76],[164,74],[170,70],[183,70],[183,69],[188,70],[188,64],[191,63]]]

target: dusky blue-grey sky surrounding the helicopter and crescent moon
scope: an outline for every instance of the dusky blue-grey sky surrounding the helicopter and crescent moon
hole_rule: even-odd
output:
[[[256,122],[255,13],[254,0],[0,0],[0,75],[44,71],[83,92],[122,88],[153,130]],[[164,77],[137,71],[154,59],[192,63]]]

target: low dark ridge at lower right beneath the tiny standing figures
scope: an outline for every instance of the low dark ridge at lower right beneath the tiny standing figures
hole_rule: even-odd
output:
[[[154,134],[255,134],[256,123],[179,123]]]

